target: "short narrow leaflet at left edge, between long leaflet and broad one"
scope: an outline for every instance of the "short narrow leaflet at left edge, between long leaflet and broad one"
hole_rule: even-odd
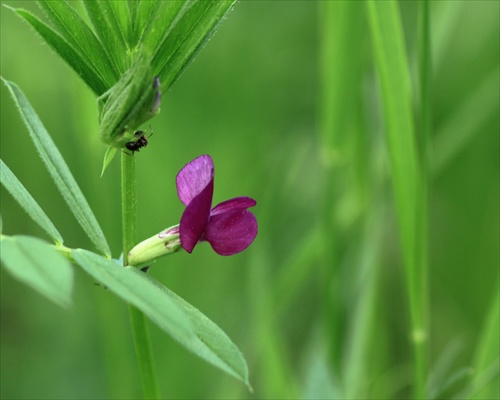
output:
[[[1,159],[0,181],[33,221],[47,232],[56,244],[62,244],[63,238],[49,217],[47,217],[47,214],[44,213],[35,199]]]

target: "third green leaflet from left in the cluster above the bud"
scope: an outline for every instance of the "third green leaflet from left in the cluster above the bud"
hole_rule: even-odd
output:
[[[85,0],[83,2],[90,22],[116,68],[123,72],[127,69],[127,43],[121,27],[108,1]],[[118,2],[122,4],[123,2]]]

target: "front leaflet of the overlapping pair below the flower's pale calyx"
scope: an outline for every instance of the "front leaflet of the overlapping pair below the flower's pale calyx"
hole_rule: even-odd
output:
[[[109,290],[143,311],[173,337],[193,340],[189,318],[169,296],[153,285],[146,274],[133,267],[122,267],[112,260],[83,249],[72,251],[74,260]]]

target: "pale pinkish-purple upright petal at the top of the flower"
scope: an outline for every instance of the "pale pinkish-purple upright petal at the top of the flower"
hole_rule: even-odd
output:
[[[214,179],[214,162],[205,154],[187,163],[177,174],[177,194],[187,206]],[[212,199],[210,198],[210,202]]]

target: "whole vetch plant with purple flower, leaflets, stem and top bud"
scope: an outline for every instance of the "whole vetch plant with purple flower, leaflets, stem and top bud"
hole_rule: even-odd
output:
[[[134,258],[134,251],[129,255],[138,240],[135,157],[127,154],[127,150],[133,153],[147,145],[140,126],[158,114],[162,92],[179,77],[234,1],[83,1],[91,25],[70,3],[40,1],[38,4],[51,25],[26,10],[14,11],[98,97],[99,136],[108,146],[103,171],[117,150],[124,150],[121,156],[123,258],[112,258],[85,196],[28,99],[16,84],[2,78],[55,185],[98,250],[66,247],[63,235],[0,160],[2,185],[54,242],[2,232],[2,265],[15,278],[64,307],[71,304],[71,263],[129,303],[146,398],[160,395],[144,316],[188,350],[250,388],[245,359],[227,335],[162,283],[133,267],[141,263]],[[143,249],[141,254],[147,261],[181,248],[191,252],[203,240],[217,253],[231,255],[244,250],[255,238],[257,222],[247,211],[256,204],[253,199],[236,198],[211,209],[213,162],[209,156],[201,156],[181,170],[177,190],[186,210],[178,226],[156,236],[161,240],[162,254],[157,254],[158,246]]]

